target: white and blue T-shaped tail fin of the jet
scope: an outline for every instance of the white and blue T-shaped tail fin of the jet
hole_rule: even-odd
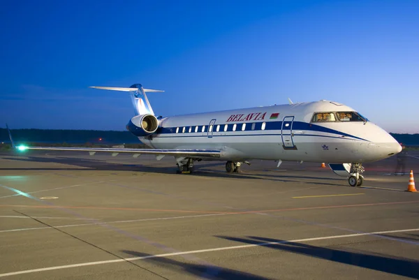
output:
[[[115,91],[128,91],[133,101],[136,115],[154,115],[152,105],[150,105],[146,92],[164,92],[156,89],[144,89],[141,84],[133,84],[131,87],[91,87],[94,89],[109,89]]]

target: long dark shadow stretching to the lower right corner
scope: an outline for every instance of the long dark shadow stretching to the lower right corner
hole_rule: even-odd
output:
[[[288,251],[291,253],[299,253],[304,256],[311,256],[314,258],[321,258],[323,260],[330,260],[336,263],[344,263],[346,265],[354,265],[356,267],[364,267],[370,270],[379,272],[386,272],[403,277],[412,277],[418,279],[419,277],[419,261],[407,258],[395,258],[385,255],[371,255],[363,252],[351,252],[339,249],[330,249],[325,247],[313,246],[297,242],[287,242],[285,240],[276,240],[265,237],[248,236],[246,238],[240,237],[226,237],[217,236],[225,240],[232,240],[246,244],[259,244],[271,249],[280,251]],[[264,244],[269,242],[278,242],[279,244]],[[330,277],[330,276],[329,276]],[[355,277],[355,276],[354,276]]]

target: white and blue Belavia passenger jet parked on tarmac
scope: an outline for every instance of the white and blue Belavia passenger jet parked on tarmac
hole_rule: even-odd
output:
[[[179,173],[193,172],[196,161],[226,161],[227,172],[240,172],[254,159],[328,163],[333,172],[361,186],[362,163],[379,161],[402,151],[392,136],[360,113],[335,101],[315,101],[256,108],[161,117],[154,115],[141,84],[131,87],[91,87],[126,91],[135,116],[126,129],[149,149],[87,147],[13,147],[52,151],[154,154],[157,160],[174,156]]]

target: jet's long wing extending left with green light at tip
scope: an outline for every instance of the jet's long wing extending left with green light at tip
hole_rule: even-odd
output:
[[[219,149],[125,149],[125,148],[85,148],[85,147],[28,147],[24,145],[17,146],[16,149],[24,152],[29,149],[37,149],[43,151],[73,151],[73,152],[89,152],[91,156],[96,152],[112,153],[117,156],[120,153],[133,154],[134,157],[140,154],[154,154],[156,156],[192,156],[203,158],[219,158],[221,150]]]

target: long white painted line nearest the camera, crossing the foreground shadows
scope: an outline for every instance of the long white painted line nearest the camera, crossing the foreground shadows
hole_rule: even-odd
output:
[[[386,230],[386,231],[376,231],[373,233],[353,233],[350,235],[330,235],[330,236],[323,236],[323,237],[313,237],[313,238],[304,238],[300,240],[284,240],[280,242],[263,242],[257,244],[246,244],[246,245],[237,245],[237,246],[227,246],[227,247],[217,247],[217,248],[210,248],[210,249],[201,249],[201,250],[193,250],[193,251],[180,251],[174,253],[161,253],[158,255],[149,255],[149,256],[142,256],[142,257],[133,257],[133,258],[118,258],[114,260],[100,260],[96,262],[89,262],[89,263],[75,263],[73,265],[59,265],[54,267],[43,267],[37,268],[34,270],[21,270],[17,272],[8,272],[0,274],[0,277],[8,277],[13,275],[20,275],[20,274],[28,274],[34,272],[44,272],[49,270],[63,270],[66,268],[73,268],[73,267],[84,267],[89,265],[105,265],[108,263],[122,263],[125,261],[133,261],[133,260],[146,260],[148,258],[163,258],[163,257],[170,257],[170,256],[182,256],[188,255],[193,253],[207,253],[207,252],[214,252],[214,251],[227,251],[227,250],[236,250],[236,249],[246,249],[256,246],[267,246],[267,245],[274,245],[274,244],[287,244],[292,242],[309,242],[309,241],[316,241],[316,240],[332,240],[338,238],[347,238],[347,237],[359,237],[359,236],[366,236],[366,235],[380,235],[380,234],[387,234],[387,233],[406,233],[410,231],[418,231],[419,228],[411,228],[406,230]]]

